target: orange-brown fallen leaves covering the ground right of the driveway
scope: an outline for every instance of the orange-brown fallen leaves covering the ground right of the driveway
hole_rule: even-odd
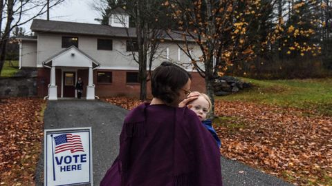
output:
[[[131,110],[125,97],[104,99]],[[221,154],[295,185],[332,185],[332,117],[310,110],[216,101],[214,127]]]

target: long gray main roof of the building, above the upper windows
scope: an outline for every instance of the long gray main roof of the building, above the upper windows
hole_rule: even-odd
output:
[[[31,24],[33,32],[62,33],[62,34],[85,34],[104,37],[136,37],[136,28],[118,28],[110,25],[99,25],[91,23],[75,23],[66,21],[47,21],[34,19]],[[128,33],[127,34],[127,30]],[[172,33],[174,40],[183,41],[181,34]],[[162,37],[170,40],[167,34]],[[190,41],[192,39],[188,39]]]

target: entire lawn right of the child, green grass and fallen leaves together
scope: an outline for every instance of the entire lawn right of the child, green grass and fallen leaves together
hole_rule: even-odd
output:
[[[223,156],[295,185],[332,185],[332,79],[242,79],[253,87],[216,96]]]

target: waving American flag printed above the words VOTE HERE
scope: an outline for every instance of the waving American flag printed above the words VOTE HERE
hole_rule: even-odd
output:
[[[61,134],[54,137],[55,154],[70,150],[74,152],[84,152],[80,135]]]

